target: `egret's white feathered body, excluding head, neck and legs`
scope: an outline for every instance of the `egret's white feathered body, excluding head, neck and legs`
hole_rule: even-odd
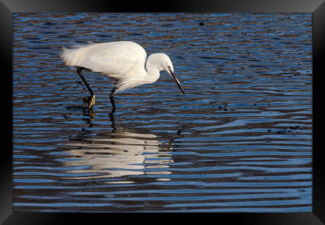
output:
[[[78,65],[116,79],[115,92],[151,81],[144,76],[146,52],[131,41],[74,45],[71,49],[63,48],[62,58],[68,66]]]

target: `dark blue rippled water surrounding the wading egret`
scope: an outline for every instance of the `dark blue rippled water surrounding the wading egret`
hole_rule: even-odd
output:
[[[302,13],[14,13],[14,211],[311,211],[311,19]],[[199,22],[204,25],[199,25]],[[115,96],[60,47],[132,40],[159,80]]]

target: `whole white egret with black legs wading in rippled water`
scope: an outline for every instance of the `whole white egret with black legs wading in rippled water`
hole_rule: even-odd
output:
[[[91,90],[82,70],[91,70],[115,79],[109,95],[112,113],[115,111],[114,94],[120,90],[128,90],[135,86],[153,83],[166,70],[174,78],[180,90],[184,93],[168,55],[153,53],[147,57],[145,50],[132,41],[115,41],[75,45],[70,49],[62,48],[63,62],[76,68],[77,73],[88,88],[90,95],[83,98],[83,104],[91,108],[95,103],[95,94]]]

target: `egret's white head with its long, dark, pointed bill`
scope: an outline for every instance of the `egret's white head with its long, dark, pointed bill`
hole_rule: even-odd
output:
[[[168,57],[168,55],[166,55],[164,53],[151,54],[151,55],[149,55],[149,57],[147,59],[147,66],[148,66],[148,63],[151,65],[154,64],[159,71],[166,70],[168,72],[168,74],[171,75],[172,78],[174,78],[174,80],[177,83],[181,92],[183,92],[183,94],[185,94],[177,77],[175,76],[174,67],[172,66],[172,62],[171,62],[170,58]]]

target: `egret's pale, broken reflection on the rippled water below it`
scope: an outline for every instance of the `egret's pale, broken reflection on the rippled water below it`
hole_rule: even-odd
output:
[[[74,178],[170,173],[166,170],[169,167],[167,164],[173,162],[170,145],[159,147],[161,143],[156,135],[116,127],[113,117],[111,121],[113,130],[108,134],[69,141],[68,146],[77,148],[69,149],[69,157],[63,161],[69,166],[83,166],[80,170],[69,171],[80,173],[80,176],[73,176]]]

